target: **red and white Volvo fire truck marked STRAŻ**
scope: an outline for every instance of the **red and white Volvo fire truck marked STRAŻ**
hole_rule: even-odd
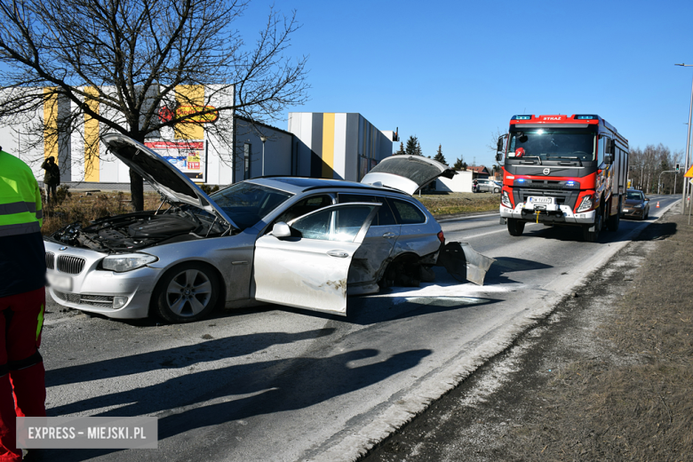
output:
[[[505,156],[505,162],[503,162]],[[500,222],[581,227],[587,242],[616,231],[625,203],[628,140],[600,116],[513,116],[498,138]]]

